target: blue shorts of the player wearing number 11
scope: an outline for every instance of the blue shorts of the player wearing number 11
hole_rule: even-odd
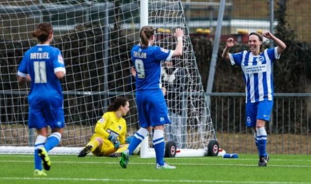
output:
[[[41,129],[49,126],[51,129],[63,128],[65,126],[65,117],[62,100],[53,99],[53,102],[40,101],[36,106],[30,103],[28,127]]]

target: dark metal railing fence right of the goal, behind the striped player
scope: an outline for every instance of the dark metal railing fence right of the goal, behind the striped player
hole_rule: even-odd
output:
[[[220,147],[227,152],[256,153],[252,128],[245,126],[244,93],[210,93],[211,116]],[[276,93],[268,133],[271,154],[311,154],[311,94]]]

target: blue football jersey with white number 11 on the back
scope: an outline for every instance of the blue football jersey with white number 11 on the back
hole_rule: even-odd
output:
[[[38,44],[25,52],[17,74],[31,77],[30,105],[39,108],[42,100],[63,100],[61,83],[55,75],[58,71],[66,72],[58,48]]]

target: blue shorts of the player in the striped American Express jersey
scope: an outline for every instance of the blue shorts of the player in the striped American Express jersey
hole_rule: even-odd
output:
[[[273,108],[272,100],[264,100],[254,103],[247,102],[246,116],[245,116],[246,126],[255,127],[257,119],[269,121],[272,108]]]

